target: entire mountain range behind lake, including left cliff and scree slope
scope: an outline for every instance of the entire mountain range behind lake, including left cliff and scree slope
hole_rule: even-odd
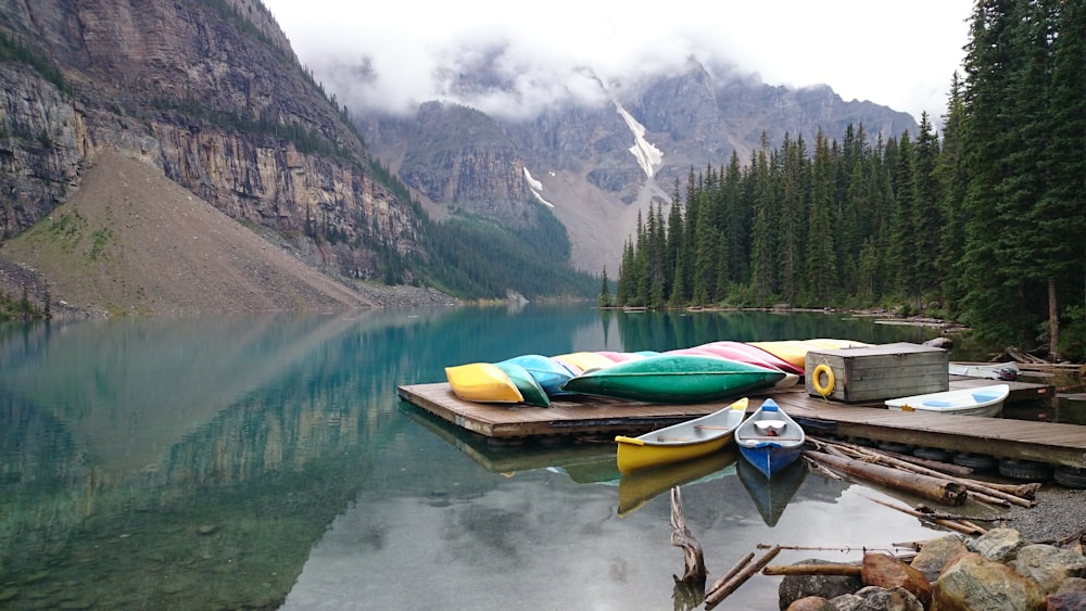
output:
[[[483,67],[459,84],[501,86],[490,78]],[[591,273],[606,265],[614,278],[637,213],[669,202],[692,167],[746,155],[762,129],[773,142],[817,126],[833,133],[862,122],[895,133],[912,125],[829,88],[771,88],[693,61],[607,90],[609,105],[510,119],[430,102],[411,117],[354,120],[258,0],[0,3],[0,297],[33,282],[38,301],[81,295],[92,303],[75,305],[118,313],[447,301],[391,284],[472,297],[591,295],[598,279],[570,263]],[[144,182],[111,180],[116,171]],[[89,178],[105,202],[79,199]],[[215,215],[185,225],[173,208],[143,222],[162,202],[184,204],[190,218],[217,212],[253,236],[216,233]],[[73,231],[71,247],[42,246],[63,230]],[[216,246],[201,253],[240,265],[190,265],[185,283],[233,278],[227,284],[239,290],[179,295],[149,280],[193,263],[173,253],[193,254],[200,239]],[[122,257],[140,243],[168,247]],[[266,265],[248,265],[262,257]],[[103,264],[122,259],[130,265]],[[353,293],[282,267],[288,259]],[[45,280],[30,280],[31,268]],[[289,287],[295,297],[244,285]]]

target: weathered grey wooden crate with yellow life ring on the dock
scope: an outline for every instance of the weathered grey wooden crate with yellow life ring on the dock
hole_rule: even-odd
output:
[[[826,398],[845,403],[882,402],[950,387],[947,352],[931,346],[897,343],[810,351],[805,384],[811,396],[821,396],[815,390],[815,369],[819,365],[826,365],[833,371],[833,390]],[[819,383],[823,390],[826,382],[825,374],[821,374]]]

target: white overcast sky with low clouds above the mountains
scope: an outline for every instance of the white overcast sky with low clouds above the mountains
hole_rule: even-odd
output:
[[[386,110],[432,99],[506,115],[598,99],[693,55],[770,85],[825,84],[935,123],[964,56],[972,0],[264,0],[303,64],[340,102]],[[503,91],[465,98],[487,65]]]

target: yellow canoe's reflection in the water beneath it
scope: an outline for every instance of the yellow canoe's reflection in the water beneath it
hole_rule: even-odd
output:
[[[618,514],[628,515],[674,486],[698,484],[735,473],[738,451],[727,447],[685,460],[626,473],[618,483]]]

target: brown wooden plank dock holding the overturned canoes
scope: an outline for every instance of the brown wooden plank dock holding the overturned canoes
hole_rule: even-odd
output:
[[[950,387],[983,386],[993,380],[951,377]],[[1052,386],[1008,382],[1008,403],[1051,397]],[[447,383],[399,387],[400,397],[418,408],[495,442],[547,437],[633,435],[705,416],[720,403],[665,405],[578,397],[552,400],[550,408],[466,402]],[[882,404],[844,404],[811,397],[803,386],[752,395],[756,409],[771,396],[810,434],[968,451],[999,458],[1038,460],[1086,468],[1086,427],[1002,418],[892,411]]]

